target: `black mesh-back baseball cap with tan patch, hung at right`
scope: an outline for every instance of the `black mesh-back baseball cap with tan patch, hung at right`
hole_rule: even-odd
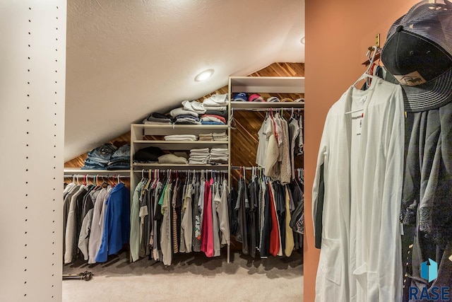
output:
[[[388,31],[381,61],[402,85],[405,111],[439,108],[452,100],[452,4],[421,1]]]

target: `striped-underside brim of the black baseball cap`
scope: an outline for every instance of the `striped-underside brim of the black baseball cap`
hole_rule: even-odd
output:
[[[385,80],[400,84],[387,70]],[[405,111],[421,112],[440,108],[452,100],[452,68],[427,83],[400,87],[403,90]]]

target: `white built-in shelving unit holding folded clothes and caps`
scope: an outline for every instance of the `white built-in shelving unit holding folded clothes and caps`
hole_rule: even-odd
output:
[[[304,93],[304,78],[300,77],[250,77],[231,76],[228,90],[228,110],[266,110],[268,108],[303,109],[304,102],[231,102],[232,93]],[[301,97],[301,96],[300,96]],[[202,134],[211,132],[226,132],[227,141],[165,141],[162,136],[170,134]],[[186,151],[194,148],[215,148],[225,146],[228,149],[228,163],[222,165],[190,165],[190,164],[159,164],[133,163],[136,151],[148,146],[157,146],[166,151]],[[131,124],[131,192],[141,179],[143,170],[174,169],[174,170],[224,170],[227,171],[228,183],[231,180],[231,129],[228,125],[183,125],[183,124]],[[133,194],[131,194],[132,198]],[[229,262],[229,250],[227,256]]]

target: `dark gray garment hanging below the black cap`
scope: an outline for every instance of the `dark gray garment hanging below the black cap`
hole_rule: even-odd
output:
[[[452,103],[407,112],[405,158],[400,217],[403,224],[415,226],[412,286],[425,286],[420,265],[429,258],[440,267],[435,282],[452,286],[447,259],[451,253],[442,255],[452,242]],[[449,275],[443,276],[445,272]]]

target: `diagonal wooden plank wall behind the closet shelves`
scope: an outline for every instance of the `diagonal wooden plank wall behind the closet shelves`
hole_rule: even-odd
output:
[[[303,63],[273,63],[264,69],[256,71],[250,76],[304,76],[304,64]],[[208,95],[204,95],[199,98],[199,101],[203,101],[215,93],[224,94],[227,93],[227,86],[213,91]],[[258,93],[258,91],[256,91]],[[261,94],[264,98],[270,97],[268,93]],[[274,94],[272,96],[277,96],[278,98],[302,98],[304,95],[297,94]],[[242,111],[234,112],[234,120],[237,122],[237,127],[239,131],[233,130],[233,140],[232,140],[232,164],[233,165],[256,165],[256,151],[257,151],[257,132],[261,127],[263,118],[265,117],[265,112],[251,112]],[[240,132],[240,134],[238,134]],[[122,144],[130,144],[130,132],[127,132],[109,143],[116,146],[121,146]],[[80,168],[84,165],[85,158],[88,157],[88,153],[82,154],[73,158],[71,161],[64,163],[66,168]],[[302,167],[302,158],[297,157],[297,166]],[[234,174],[234,173],[233,173]]]

